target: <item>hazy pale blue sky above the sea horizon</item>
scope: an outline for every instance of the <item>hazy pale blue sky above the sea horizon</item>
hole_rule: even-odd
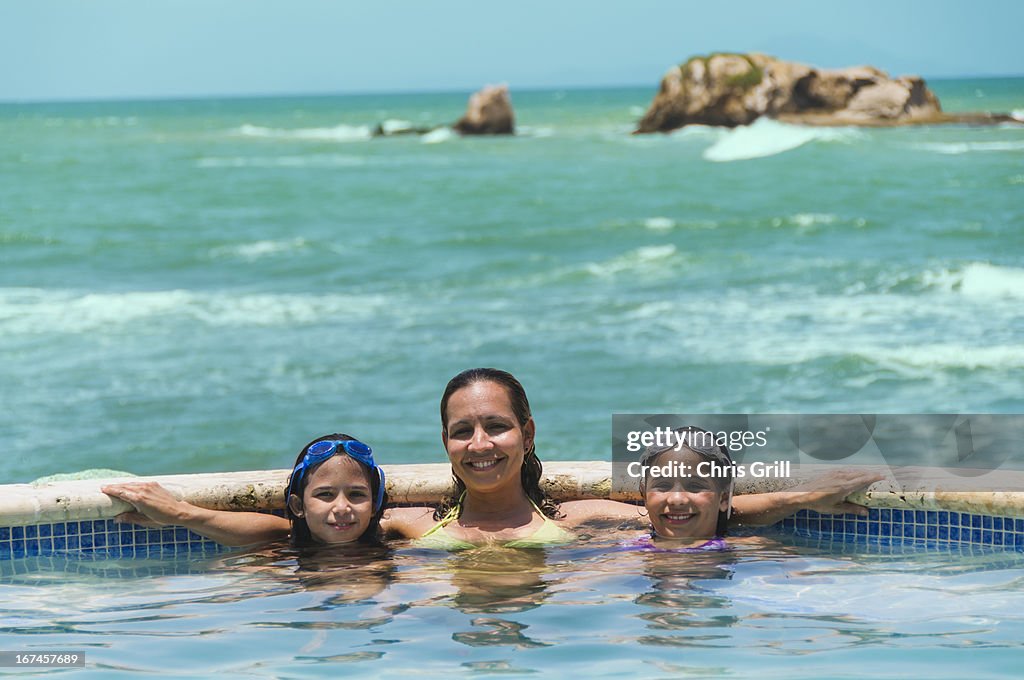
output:
[[[1024,0],[0,0],[0,100],[650,85],[710,51],[1024,74]]]

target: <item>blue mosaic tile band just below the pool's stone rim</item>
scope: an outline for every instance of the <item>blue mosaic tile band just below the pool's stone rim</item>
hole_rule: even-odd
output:
[[[772,529],[851,546],[967,547],[1024,552],[1024,517],[947,510],[871,508],[867,517],[802,510]],[[205,557],[229,550],[181,526],[147,528],[113,519],[0,526],[0,559],[59,555]]]

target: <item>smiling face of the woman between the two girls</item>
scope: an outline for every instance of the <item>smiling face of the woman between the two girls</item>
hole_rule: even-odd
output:
[[[456,475],[474,492],[520,484],[525,452],[534,443],[534,420],[520,426],[502,385],[475,382],[449,398],[441,439]]]

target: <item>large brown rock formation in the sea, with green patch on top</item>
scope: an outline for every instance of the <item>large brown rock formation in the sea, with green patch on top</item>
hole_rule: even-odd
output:
[[[773,56],[717,53],[675,66],[662,79],[637,133],[685,125],[749,125],[762,116],[805,125],[1013,122],[1009,116],[942,112],[918,76],[873,67],[825,70]]]

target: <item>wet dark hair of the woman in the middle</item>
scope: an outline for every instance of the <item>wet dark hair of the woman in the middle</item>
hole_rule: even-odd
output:
[[[512,413],[515,414],[516,421],[518,421],[520,427],[524,427],[526,423],[529,422],[531,414],[529,411],[529,399],[526,398],[526,390],[523,389],[522,384],[516,380],[515,376],[507,371],[502,371],[500,369],[469,369],[463,371],[455,378],[449,381],[447,386],[444,387],[444,393],[441,395],[441,429],[447,431],[447,405],[449,399],[452,395],[458,392],[463,387],[468,387],[478,382],[493,382],[501,385],[505,388],[506,393],[509,395],[509,401],[512,405]],[[555,503],[551,497],[549,497],[544,490],[541,487],[541,477],[544,474],[544,466],[541,464],[541,459],[537,457],[537,444],[536,442],[530,442],[529,449],[526,451],[525,456],[522,461],[522,488],[526,492],[526,496],[529,497],[537,507],[541,509],[545,515],[551,518],[560,517],[558,512],[558,504]],[[466,484],[463,483],[462,479],[458,475],[453,473],[455,478],[455,488],[452,494],[446,496],[434,510],[434,519],[440,521],[444,515],[449,513],[456,505],[459,504],[459,499],[462,498],[463,493],[466,491]]]

